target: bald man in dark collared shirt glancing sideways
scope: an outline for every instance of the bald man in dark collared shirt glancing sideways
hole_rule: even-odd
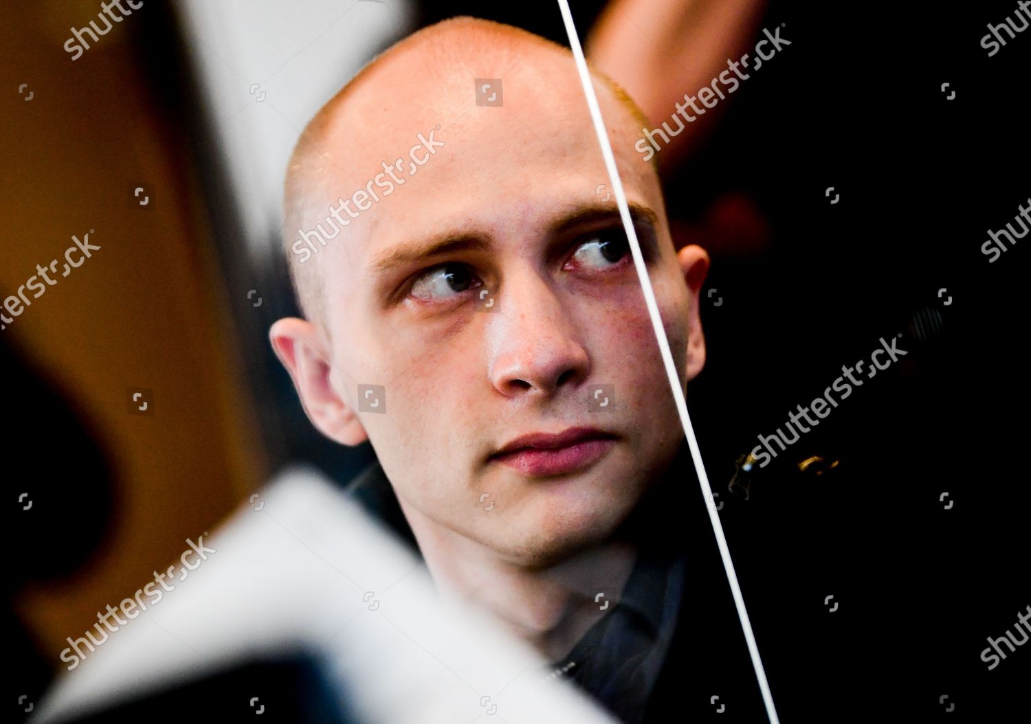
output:
[[[633,148],[640,113],[595,87],[686,385],[705,359],[708,257],[674,249]],[[568,49],[472,19],[426,28],[302,134],[285,230],[306,319],[270,337],[312,423],[371,442],[378,464],[355,494],[441,591],[636,722],[658,716],[660,679],[675,698],[688,609],[673,526],[701,505],[674,464],[683,432],[606,186]],[[743,644],[728,650],[747,670]]]

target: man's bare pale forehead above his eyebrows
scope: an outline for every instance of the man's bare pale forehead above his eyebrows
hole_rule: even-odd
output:
[[[391,68],[363,78],[328,120],[323,143],[336,161],[326,169],[326,209],[318,217],[370,181],[379,197],[360,195],[371,205],[355,209],[358,217],[318,254],[330,309],[353,304],[371,261],[393,247],[455,233],[487,237],[500,250],[577,207],[613,204],[572,59],[543,48],[528,56],[505,59],[504,68]],[[493,79],[489,92],[497,88],[502,105],[476,104],[477,77]],[[594,88],[628,199],[663,218],[658,179],[633,149],[638,124],[607,85],[595,80]],[[431,131],[437,146],[433,153],[419,147],[415,156],[429,159],[415,166],[409,149]],[[387,195],[385,165],[399,158],[404,165],[394,175],[403,184],[392,183]]]

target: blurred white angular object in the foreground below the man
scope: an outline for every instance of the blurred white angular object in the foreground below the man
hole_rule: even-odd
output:
[[[366,722],[614,721],[571,686],[544,681],[546,663],[483,614],[441,599],[421,561],[309,469],[281,475],[204,545],[215,552],[59,676],[32,721],[299,646],[330,662],[341,706]]]

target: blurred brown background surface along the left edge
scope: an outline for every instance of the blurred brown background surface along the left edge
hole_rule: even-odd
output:
[[[181,129],[156,102],[163,89],[149,85],[133,53],[146,5],[78,60],[63,48],[68,28],[96,20],[99,4],[16,3],[0,42],[0,289],[16,294],[37,264],[61,258],[72,235],[95,230],[90,242],[101,247],[67,277],[59,267],[57,283],[0,333],[95,423],[120,501],[92,564],[15,601],[55,667],[65,636],[153,578],[187,536],[265,477],[198,172]],[[132,207],[137,185],[153,206]],[[127,388],[140,387],[154,391],[152,416],[127,412]],[[5,412],[16,421],[18,410]],[[46,475],[62,440],[35,434],[46,453],[31,484],[78,484]],[[91,511],[81,514],[86,521]],[[61,545],[74,549],[74,529]]]

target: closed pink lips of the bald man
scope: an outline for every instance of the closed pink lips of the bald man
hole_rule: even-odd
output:
[[[617,436],[597,427],[524,435],[490,456],[524,475],[564,475],[585,470],[616,444]]]

